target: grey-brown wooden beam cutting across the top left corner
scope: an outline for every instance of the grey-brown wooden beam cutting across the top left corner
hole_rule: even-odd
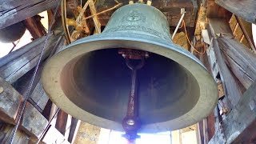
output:
[[[56,7],[58,0],[2,0],[0,29]]]

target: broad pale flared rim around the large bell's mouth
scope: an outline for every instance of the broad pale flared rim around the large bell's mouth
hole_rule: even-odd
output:
[[[76,46],[85,43],[93,45],[94,49],[88,48],[88,50],[86,50],[86,47],[83,48],[81,46],[75,48]],[[206,118],[210,112],[214,110],[214,107],[218,102],[217,84],[214,81],[214,78],[212,78],[212,76],[207,72],[205,66],[202,65],[202,62],[200,62],[198,58],[194,57],[193,54],[190,54],[190,52],[183,49],[181,46],[175,45],[171,41],[167,42],[166,40],[160,39],[158,37],[144,34],[127,34],[123,32],[115,32],[95,34],[86,38],[79,39],[78,41],[71,43],[69,46],[66,46],[64,50],[54,55],[54,57],[50,58],[50,60],[46,62],[46,66],[42,71],[42,86],[52,102],[54,102],[62,110],[68,112],[70,115],[81,119],[84,122],[88,122],[94,126],[123,131],[122,122],[118,123],[105,118],[100,118],[76,106],[73,102],[70,101],[69,98],[65,96],[59,82],[61,70],[64,66],[66,66],[67,62],[70,62],[71,59],[77,57],[78,55],[86,54],[90,51],[102,50],[111,47],[113,48],[113,46],[103,47],[103,45],[106,43],[108,45],[111,45],[110,43],[112,43],[112,45],[115,45],[114,47],[116,48],[118,45],[121,46],[121,44],[123,46],[124,43],[126,43],[126,45],[136,43],[142,43],[145,46],[154,45],[161,47],[161,54],[157,54],[166,58],[170,58],[170,55],[175,56],[178,54],[176,57],[177,59],[170,59],[174,60],[174,62],[178,62],[184,68],[186,68],[186,70],[190,71],[190,73],[198,81],[200,97],[198,98],[198,102],[190,111],[188,111],[186,114],[183,114],[181,117],[174,118],[170,121],[144,125],[140,130],[138,130],[138,132],[156,133],[169,130],[178,130],[199,122],[202,120],[202,118]],[[142,50],[139,48],[135,49]],[[153,48],[149,48],[147,51],[155,53]],[[59,101],[59,99],[62,99],[62,101]],[[206,109],[205,106],[208,106],[208,109]]]

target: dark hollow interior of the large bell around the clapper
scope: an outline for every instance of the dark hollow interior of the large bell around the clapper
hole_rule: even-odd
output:
[[[66,97],[82,110],[121,123],[127,110],[131,70],[118,50],[94,50],[74,58],[62,69],[60,83]],[[170,58],[150,53],[137,73],[142,125],[178,118],[198,102],[198,82]]]

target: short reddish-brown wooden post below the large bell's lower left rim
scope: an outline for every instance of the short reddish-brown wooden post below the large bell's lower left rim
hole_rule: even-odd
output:
[[[57,115],[57,122],[56,122],[56,129],[63,135],[65,135],[66,132],[66,121],[67,121],[68,114],[66,114],[64,111],[59,110]]]

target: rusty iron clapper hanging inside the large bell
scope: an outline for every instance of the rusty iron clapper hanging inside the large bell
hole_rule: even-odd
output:
[[[128,106],[126,117],[122,120],[122,127],[126,131],[123,136],[130,142],[134,142],[140,136],[137,134],[140,128],[138,118],[138,94],[137,91],[137,70],[141,69],[145,64],[145,58],[149,57],[148,52],[141,50],[124,49],[119,50],[119,54],[126,60],[126,66],[132,71],[130,96],[128,98]],[[132,61],[139,61],[137,64],[132,64]]]

